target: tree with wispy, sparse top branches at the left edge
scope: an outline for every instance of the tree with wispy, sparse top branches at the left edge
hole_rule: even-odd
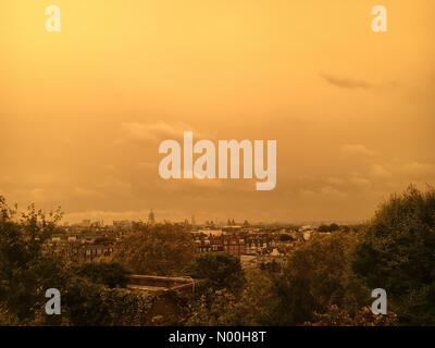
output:
[[[46,214],[34,204],[18,213],[3,197],[0,212],[0,307],[5,306],[9,318],[30,323],[42,308],[46,289],[65,281],[62,261],[42,252],[62,214]]]

